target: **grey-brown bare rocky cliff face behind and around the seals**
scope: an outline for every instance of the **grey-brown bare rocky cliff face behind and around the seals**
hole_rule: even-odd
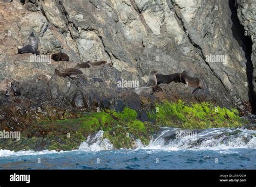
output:
[[[150,99],[208,99],[248,112],[248,103],[253,109],[255,104],[254,10],[253,0],[2,1],[0,80],[15,78],[22,89],[16,100],[2,97],[2,105],[19,100],[26,110],[48,102],[67,105],[63,110],[92,109],[116,107],[122,100],[139,108],[143,106],[138,96],[117,88],[117,81],[138,80],[142,87],[149,71],[156,69],[161,74],[186,70],[200,77],[206,88],[192,95],[192,88],[172,83]],[[70,62],[31,62],[31,54],[15,55],[31,31],[40,41],[41,55],[63,49]],[[112,68],[83,70],[106,82],[87,85],[55,76],[49,84],[36,82],[40,74],[53,76],[55,68],[71,68],[87,60],[113,63]]]

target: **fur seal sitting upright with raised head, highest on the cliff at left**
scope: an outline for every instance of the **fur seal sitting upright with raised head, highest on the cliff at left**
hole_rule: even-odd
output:
[[[33,53],[39,55],[38,49],[38,39],[36,37],[36,34],[32,32],[29,35],[29,45],[26,45],[20,49],[18,49],[18,54],[22,53]]]

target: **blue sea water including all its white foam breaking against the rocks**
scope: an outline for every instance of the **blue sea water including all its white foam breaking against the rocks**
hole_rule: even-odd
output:
[[[256,169],[255,131],[242,128],[163,128],[136,149],[113,149],[99,131],[79,149],[56,152],[0,150],[0,169]]]

